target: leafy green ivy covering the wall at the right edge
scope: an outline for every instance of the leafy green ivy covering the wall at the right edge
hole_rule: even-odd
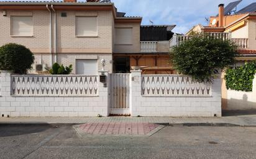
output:
[[[256,61],[236,69],[227,69],[225,80],[227,89],[252,92],[252,83],[256,73]]]

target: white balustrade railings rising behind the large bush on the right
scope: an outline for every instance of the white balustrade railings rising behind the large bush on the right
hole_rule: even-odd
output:
[[[237,44],[239,48],[248,48],[248,38],[232,38],[231,33],[208,33],[208,35],[206,36],[209,38],[217,38],[222,40],[231,39],[232,41],[234,41],[235,44]],[[180,45],[181,43],[189,39],[190,36],[188,35],[173,35],[170,40],[170,47]]]

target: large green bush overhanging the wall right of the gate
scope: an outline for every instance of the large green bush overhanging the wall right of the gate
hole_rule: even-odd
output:
[[[173,46],[170,56],[178,73],[203,81],[212,80],[216,70],[233,64],[238,52],[230,40],[196,34],[181,45]]]

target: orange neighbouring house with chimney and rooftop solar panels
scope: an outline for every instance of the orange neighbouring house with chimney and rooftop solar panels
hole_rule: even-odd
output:
[[[237,58],[237,65],[256,59],[256,2],[240,11],[233,10],[239,2],[231,2],[225,8],[224,4],[219,4],[219,14],[210,17],[209,26],[199,24],[186,33],[229,33],[229,38],[237,43],[239,53],[242,54],[242,57]]]

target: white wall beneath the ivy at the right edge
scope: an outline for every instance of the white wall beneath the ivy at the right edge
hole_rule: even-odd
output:
[[[256,109],[256,75],[252,92],[227,90],[227,110]]]

